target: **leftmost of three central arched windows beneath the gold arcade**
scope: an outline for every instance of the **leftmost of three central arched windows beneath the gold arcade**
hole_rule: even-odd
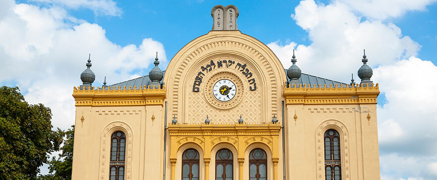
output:
[[[182,180],[199,180],[199,152],[195,149],[182,154]]]

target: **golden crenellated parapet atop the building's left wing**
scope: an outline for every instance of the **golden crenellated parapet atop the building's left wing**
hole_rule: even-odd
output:
[[[139,106],[163,105],[166,88],[124,87],[108,88],[73,88],[76,106]]]

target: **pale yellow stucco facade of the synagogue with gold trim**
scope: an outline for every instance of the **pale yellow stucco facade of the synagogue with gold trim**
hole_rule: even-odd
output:
[[[223,59],[246,64],[257,89],[250,90],[251,78],[234,68],[236,63],[202,71],[211,60]],[[193,82],[199,71],[204,75],[196,92]],[[231,103],[214,101],[208,93],[211,82],[225,76],[241,87]],[[249,152],[262,148],[268,157],[268,180],[284,175],[288,180],[323,180],[323,133],[335,129],[341,136],[342,179],[379,180],[378,86],[289,88],[286,80],[283,66],[266,45],[240,31],[211,31],[173,57],[163,89],[75,88],[72,179],[108,180],[110,136],[123,131],[126,180],[162,180],[164,173],[165,180],[180,180],[181,157],[188,148],[200,153],[201,180],[215,178],[215,153],[220,148],[233,152],[234,179],[249,180]],[[206,115],[209,125],[203,123]],[[242,125],[237,124],[240,115]],[[271,124],[273,115],[278,124]],[[171,123],[173,116],[178,124],[165,129],[165,118]]]

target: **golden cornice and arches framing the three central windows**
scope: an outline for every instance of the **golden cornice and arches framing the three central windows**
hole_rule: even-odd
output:
[[[170,159],[176,158],[179,148],[186,143],[195,143],[202,150],[204,159],[209,159],[211,150],[219,143],[233,145],[238,153],[239,162],[244,162],[244,153],[252,143],[265,144],[272,158],[279,158],[280,123],[272,124],[169,124]]]

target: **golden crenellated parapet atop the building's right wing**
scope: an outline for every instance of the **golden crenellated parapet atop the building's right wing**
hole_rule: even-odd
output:
[[[378,84],[367,87],[349,85],[284,86],[286,104],[376,104]]]

